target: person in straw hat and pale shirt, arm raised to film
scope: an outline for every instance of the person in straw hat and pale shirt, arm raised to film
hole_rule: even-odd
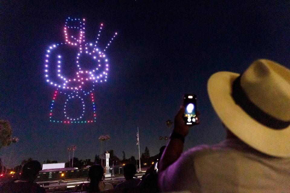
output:
[[[242,74],[213,74],[208,95],[227,139],[182,153],[182,107],[159,162],[160,190],[289,192],[290,70],[259,59]]]

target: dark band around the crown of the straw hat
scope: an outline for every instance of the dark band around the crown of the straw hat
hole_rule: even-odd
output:
[[[265,113],[262,109],[252,103],[240,84],[241,76],[236,78],[232,86],[232,97],[248,115],[257,122],[273,129],[284,129],[290,125],[290,121],[282,121]],[[277,99],[278,100],[278,99]]]

